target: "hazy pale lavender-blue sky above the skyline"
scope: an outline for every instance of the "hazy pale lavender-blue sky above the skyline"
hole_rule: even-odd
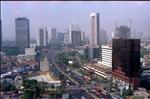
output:
[[[149,1],[2,1],[2,32],[4,39],[15,39],[15,18],[30,20],[31,38],[38,37],[39,27],[68,29],[70,23],[79,24],[86,35],[90,34],[90,13],[100,13],[100,27],[111,36],[117,25],[150,33]]]

